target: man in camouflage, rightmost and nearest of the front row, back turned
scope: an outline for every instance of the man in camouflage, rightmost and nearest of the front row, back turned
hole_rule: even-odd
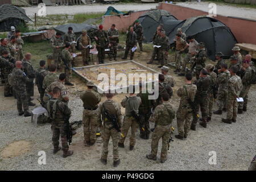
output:
[[[147,159],[156,160],[158,153],[158,143],[162,138],[162,150],[160,155],[160,163],[167,160],[168,143],[171,137],[172,119],[175,118],[174,106],[168,102],[167,93],[162,94],[162,104],[155,107],[154,114],[150,117],[150,122],[155,123],[155,130],[152,134],[151,153],[146,155]]]

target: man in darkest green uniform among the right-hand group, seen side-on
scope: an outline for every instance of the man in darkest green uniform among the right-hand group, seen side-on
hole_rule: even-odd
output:
[[[207,117],[208,117],[208,102],[207,97],[209,94],[210,88],[210,77],[207,75],[208,72],[205,68],[201,69],[200,78],[196,80],[197,92],[195,96],[195,106],[197,113],[199,113],[199,107],[202,114],[202,120],[200,125],[203,127],[207,127]],[[196,123],[198,121],[197,117],[193,117],[193,121],[191,124],[191,130],[196,130]]]

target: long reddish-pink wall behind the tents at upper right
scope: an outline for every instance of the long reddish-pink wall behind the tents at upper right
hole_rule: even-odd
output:
[[[168,3],[159,3],[158,9],[167,10],[179,20],[191,18],[193,16],[208,15],[207,12],[201,10],[191,9],[189,7],[182,7]],[[231,16],[217,15],[213,17],[225,23],[234,36],[236,36],[239,43],[256,44],[256,20],[236,18]]]

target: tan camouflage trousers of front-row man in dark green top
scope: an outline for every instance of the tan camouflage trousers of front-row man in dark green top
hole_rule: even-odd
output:
[[[85,142],[96,142],[96,131],[99,121],[99,111],[84,109],[82,113],[82,122],[84,123],[84,140]]]

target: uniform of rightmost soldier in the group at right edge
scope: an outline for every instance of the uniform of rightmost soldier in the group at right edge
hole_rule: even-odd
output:
[[[238,103],[238,109],[243,109],[247,107],[247,102],[248,102],[248,93],[251,88],[250,84],[250,79],[251,79],[251,73],[252,73],[252,68],[248,67],[244,73],[244,76],[242,77],[242,84],[243,84],[243,89],[241,90],[240,96],[243,98],[243,102]]]

